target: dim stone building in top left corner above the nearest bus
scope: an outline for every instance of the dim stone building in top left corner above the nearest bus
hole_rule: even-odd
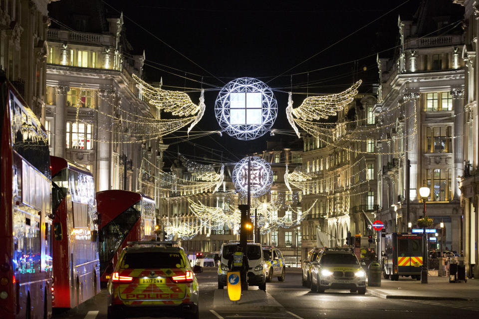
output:
[[[50,0],[0,0],[0,69],[44,124]]]

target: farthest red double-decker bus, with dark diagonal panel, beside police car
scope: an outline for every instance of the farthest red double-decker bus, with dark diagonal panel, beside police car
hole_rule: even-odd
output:
[[[104,190],[96,193],[100,219],[98,251],[100,280],[107,282],[105,270],[116,264],[120,252],[129,241],[151,240],[155,236],[155,201],[128,190]]]

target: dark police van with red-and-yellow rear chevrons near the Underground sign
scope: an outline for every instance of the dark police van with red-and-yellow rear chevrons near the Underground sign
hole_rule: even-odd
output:
[[[423,234],[386,234],[382,259],[384,279],[398,280],[399,276],[411,276],[421,280],[423,240]]]

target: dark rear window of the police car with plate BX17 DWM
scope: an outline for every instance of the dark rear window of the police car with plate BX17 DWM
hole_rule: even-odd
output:
[[[175,252],[130,252],[126,253],[120,268],[184,268],[185,261]]]

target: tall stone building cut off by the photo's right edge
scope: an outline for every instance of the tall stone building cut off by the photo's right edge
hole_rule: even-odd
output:
[[[465,39],[464,46],[459,48],[462,53],[465,68],[465,85],[463,104],[461,104],[461,114],[458,116],[458,125],[464,127],[464,138],[462,142],[463,154],[457,160],[458,164],[463,164],[464,170],[458,175],[461,176],[459,186],[461,190],[461,208],[464,221],[461,228],[461,242],[464,256],[469,264],[468,275],[479,277],[477,267],[479,260],[478,242],[479,242],[479,216],[478,216],[478,165],[479,165],[479,117],[478,117],[478,95],[479,89],[477,81],[478,73],[478,44],[479,34],[479,3],[473,0],[454,0],[454,3],[465,7],[464,28]]]

